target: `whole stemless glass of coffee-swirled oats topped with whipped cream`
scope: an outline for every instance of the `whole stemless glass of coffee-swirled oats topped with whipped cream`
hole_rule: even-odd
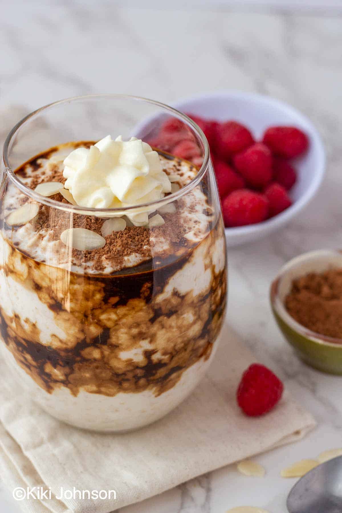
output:
[[[195,164],[148,144],[174,123]],[[119,432],[189,396],[214,356],[227,283],[198,126],[144,98],[54,103],[7,137],[0,199],[0,350],[32,399]]]

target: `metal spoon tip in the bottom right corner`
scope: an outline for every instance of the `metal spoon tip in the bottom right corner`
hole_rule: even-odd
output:
[[[342,456],[313,468],[292,488],[290,513],[342,513]]]

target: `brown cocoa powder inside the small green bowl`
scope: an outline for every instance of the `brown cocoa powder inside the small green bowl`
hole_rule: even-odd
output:
[[[342,339],[342,269],[311,272],[293,280],[285,308],[311,331]]]

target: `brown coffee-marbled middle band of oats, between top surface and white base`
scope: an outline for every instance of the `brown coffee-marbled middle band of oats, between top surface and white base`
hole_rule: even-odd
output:
[[[17,364],[47,392],[115,396],[174,387],[208,359],[226,302],[221,222],[173,263],[131,275],[79,275],[5,241],[0,330]],[[16,301],[17,299],[17,301]]]

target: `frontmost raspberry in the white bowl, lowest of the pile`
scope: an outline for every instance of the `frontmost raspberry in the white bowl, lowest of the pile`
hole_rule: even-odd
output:
[[[249,189],[231,192],[222,203],[226,226],[244,226],[265,221],[268,200],[263,194]]]

